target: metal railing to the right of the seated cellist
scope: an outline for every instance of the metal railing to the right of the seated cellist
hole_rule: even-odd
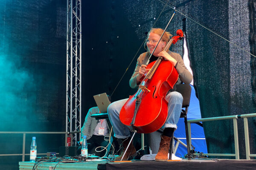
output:
[[[188,120],[189,144],[187,144],[187,146],[189,147],[189,150],[191,149],[190,148],[190,144],[191,144],[191,123],[233,119],[235,154],[232,154],[232,153],[224,153],[224,154],[223,153],[203,153],[201,155],[202,156],[205,156],[205,155],[208,155],[208,156],[236,156],[236,159],[239,159],[237,119],[243,118],[244,119],[244,138],[245,138],[246,159],[250,159],[250,156],[256,156],[256,154],[250,154],[249,131],[248,131],[248,120],[247,120],[247,118],[249,118],[249,117],[256,117],[256,113]],[[195,154],[195,155],[199,155],[199,154]]]

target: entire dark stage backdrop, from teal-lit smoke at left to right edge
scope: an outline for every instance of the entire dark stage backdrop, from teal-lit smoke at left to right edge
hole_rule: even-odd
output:
[[[255,54],[256,49],[254,0],[171,0],[164,8],[166,2],[82,1],[82,120],[96,106],[93,95],[106,92],[116,101],[135,93],[128,81],[145,51],[139,50],[145,33],[153,26],[165,28],[174,6],[177,14],[167,31],[175,35],[186,17],[202,117],[255,112],[255,57],[245,52]],[[66,8],[65,0],[1,1],[0,131],[65,131]],[[182,41],[172,51],[182,55]],[[248,120],[253,151],[256,124],[254,118]],[[245,159],[243,121],[238,123]],[[232,127],[232,120],[204,123],[209,153],[234,153]],[[26,153],[32,136],[37,137],[38,153],[58,152],[64,145],[64,135],[27,135]],[[0,154],[22,153],[21,134],[0,134],[0,144]],[[3,156],[0,165],[17,169],[21,160]]]

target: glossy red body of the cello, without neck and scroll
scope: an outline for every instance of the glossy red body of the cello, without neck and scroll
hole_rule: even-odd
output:
[[[154,62],[148,64],[151,68]],[[173,88],[178,79],[178,73],[171,62],[163,60],[157,68],[152,79],[145,79],[145,87],[148,88],[143,94],[140,107],[137,111],[134,128],[137,133],[151,133],[163,126],[167,118],[168,102],[165,99],[166,93]],[[142,77],[142,80],[144,77]],[[131,125],[134,117],[136,96],[142,93],[138,90],[136,94],[130,96],[122,107],[120,120],[124,125]]]

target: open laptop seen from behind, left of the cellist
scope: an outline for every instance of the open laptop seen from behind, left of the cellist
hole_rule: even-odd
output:
[[[93,98],[99,108],[100,113],[107,113],[108,105],[110,105],[107,94],[97,94],[93,96]]]

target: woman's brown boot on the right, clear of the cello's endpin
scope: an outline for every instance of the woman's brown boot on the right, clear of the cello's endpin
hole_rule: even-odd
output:
[[[170,146],[171,139],[172,137],[161,135],[159,150],[155,158],[156,161],[168,160],[168,153],[169,153],[169,146]]]

